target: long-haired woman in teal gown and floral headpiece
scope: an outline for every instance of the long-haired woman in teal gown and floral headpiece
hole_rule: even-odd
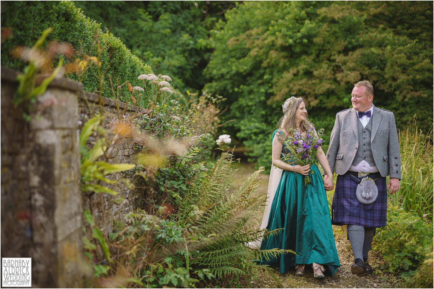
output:
[[[301,97],[288,98],[282,108],[283,117],[279,121],[279,129],[273,133],[273,166],[261,229],[284,230],[262,242],[251,242],[249,246],[253,249],[279,248],[296,252],[270,258],[270,261],[264,258],[260,261],[263,265],[279,266],[280,273],[295,266],[296,275],[304,275],[305,265],[312,264],[315,278],[332,276],[340,266],[325,193],[325,188],[333,188],[333,175],[321,147],[317,150],[316,159],[328,175],[325,183],[315,164],[300,166],[281,160],[283,153],[289,153],[289,149],[283,144],[288,133],[298,130],[302,135],[306,135],[312,127],[307,120],[306,106]],[[311,169],[313,173],[309,186],[312,188],[308,190],[304,176],[308,175]]]

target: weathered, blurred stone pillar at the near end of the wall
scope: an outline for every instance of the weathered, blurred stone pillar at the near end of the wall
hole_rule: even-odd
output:
[[[33,276],[54,287],[82,287],[77,97],[81,84],[62,81],[64,88],[51,86],[37,98],[30,121],[35,144],[34,162],[29,164],[30,199],[36,212],[33,255],[36,260],[48,261],[35,262]]]

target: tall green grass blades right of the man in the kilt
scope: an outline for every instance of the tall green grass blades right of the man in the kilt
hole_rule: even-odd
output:
[[[411,128],[399,131],[402,180],[399,191],[389,198],[393,205],[417,214],[430,223],[433,217],[433,139],[418,130],[417,121]]]

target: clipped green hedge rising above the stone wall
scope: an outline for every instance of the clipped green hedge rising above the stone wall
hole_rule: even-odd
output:
[[[113,98],[109,89],[109,75],[115,83],[118,78],[119,84],[128,81],[133,86],[142,86],[143,82],[139,81],[137,76],[152,72],[151,67],[143,64],[121,40],[110,32],[102,32],[100,24],[86,17],[71,1],[2,1],[1,28],[2,31],[5,28],[10,29],[12,34],[2,39],[1,65],[22,71],[26,63],[11,56],[11,49],[20,45],[33,46],[48,27],[53,27],[53,32],[48,35],[43,47],[53,40],[68,42],[76,52],[82,49],[89,56],[97,56],[94,36],[98,35],[101,47],[104,48],[101,52],[101,71],[105,75],[105,97]],[[76,57],[66,59],[66,62],[74,61]],[[76,75],[69,74],[68,77],[77,80]],[[99,91],[96,67],[89,69],[82,83],[85,91]],[[128,102],[127,86],[122,86],[119,92],[121,100]]]

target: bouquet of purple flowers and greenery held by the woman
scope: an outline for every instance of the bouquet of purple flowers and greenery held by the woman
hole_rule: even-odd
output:
[[[324,129],[321,128],[315,134],[311,127],[306,134],[301,134],[298,130],[289,132],[289,136],[283,141],[283,144],[289,149],[289,153],[283,156],[282,161],[293,165],[313,165],[316,162],[315,155],[318,148],[324,143],[322,136]],[[311,169],[309,175],[313,174]],[[310,183],[309,175],[305,176],[305,185]]]

